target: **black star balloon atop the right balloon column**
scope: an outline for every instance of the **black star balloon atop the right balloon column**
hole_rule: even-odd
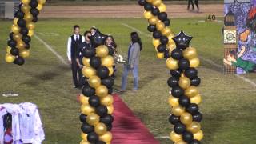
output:
[[[190,41],[193,37],[186,35],[183,31],[181,31],[176,37],[173,38],[178,49],[186,49],[190,46]]]

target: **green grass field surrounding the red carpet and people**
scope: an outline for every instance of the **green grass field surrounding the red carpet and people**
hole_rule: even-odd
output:
[[[172,30],[178,33],[185,30],[193,35],[191,46],[198,49],[202,58],[209,59],[222,66],[222,22],[198,22],[200,18],[174,18]],[[25,66],[6,64],[6,38],[11,22],[0,21],[0,93],[17,91],[18,98],[0,98],[5,102],[34,102],[38,105],[45,126],[47,144],[76,144],[80,142],[78,115],[80,104],[76,94],[80,90],[72,88],[71,71],[59,59],[46,49],[36,38],[31,42],[30,58]],[[118,49],[127,51],[130,41],[130,28],[126,23],[145,34],[147,22],[142,18],[87,18],[87,19],[41,19],[36,34],[66,58],[66,41],[72,33],[72,26],[79,24],[82,30],[97,26],[104,34],[113,34]],[[122,94],[134,114],[138,116],[156,138],[168,136],[172,126],[168,122],[170,107],[167,99],[169,88],[166,84],[170,77],[165,60],[158,60],[151,44],[152,38],[141,34],[142,51],[140,87],[138,93],[130,91]],[[210,144],[253,144],[256,142],[256,97],[255,87],[235,77],[223,74],[222,69],[202,61],[198,69],[202,78],[199,87],[203,102],[200,109],[204,114],[202,130],[203,143]],[[122,66],[118,66],[115,88],[121,83]],[[244,77],[256,82],[255,74]],[[132,87],[130,77],[129,87]],[[161,143],[171,143],[169,139],[158,138]]]

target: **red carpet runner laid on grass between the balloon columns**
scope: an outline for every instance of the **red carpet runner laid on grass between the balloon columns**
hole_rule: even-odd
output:
[[[114,94],[114,125],[112,144],[159,144],[140,119]]]

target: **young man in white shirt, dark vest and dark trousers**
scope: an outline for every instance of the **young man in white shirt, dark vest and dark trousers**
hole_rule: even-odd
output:
[[[79,81],[82,78],[81,69],[76,62],[76,54],[78,52],[78,46],[85,42],[85,38],[80,34],[80,26],[74,26],[74,34],[70,36],[67,42],[67,58],[71,65],[74,87],[79,88]],[[79,76],[78,76],[79,75]]]

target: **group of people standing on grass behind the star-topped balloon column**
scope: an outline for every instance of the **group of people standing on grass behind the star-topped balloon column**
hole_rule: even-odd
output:
[[[91,27],[90,30],[87,30],[83,35],[80,34],[80,26],[75,25],[73,30],[74,34],[68,38],[67,42],[67,58],[72,70],[74,88],[81,88],[84,83],[83,81],[86,81],[86,79],[82,77],[82,52],[87,48],[93,47],[90,38],[94,36],[98,29]],[[130,71],[132,71],[134,75],[133,91],[138,90],[138,64],[140,51],[142,50],[142,41],[137,32],[132,32],[130,34],[130,41],[128,58],[126,64],[124,64],[124,71],[122,74],[122,86],[120,92],[124,92],[126,90],[127,76]],[[117,44],[112,35],[107,35],[104,44],[107,47],[112,48],[114,50],[114,54],[117,54]]]

